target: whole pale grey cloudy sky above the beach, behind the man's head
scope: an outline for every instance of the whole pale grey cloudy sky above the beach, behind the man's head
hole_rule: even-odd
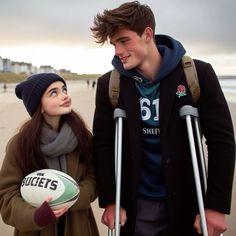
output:
[[[125,1],[7,0],[0,3],[0,45],[100,47],[90,27],[94,16]],[[156,33],[181,41],[187,52],[203,58],[236,54],[235,0],[146,0],[156,16]],[[0,52],[1,56],[1,52]]]

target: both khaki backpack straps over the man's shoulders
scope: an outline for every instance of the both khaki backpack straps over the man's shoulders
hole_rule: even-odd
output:
[[[191,57],[184,55],[182,57],[182,65],[189,89],[192,93],[193,102],[194,104],[196,104],[196,102],[200,97],[201,91],[195,63]],[[120,74],[114,68],[111,72],[110,82],[109,82],[109,97],[113,107],[117,107],[118,105],[119,94],[120,94]]]

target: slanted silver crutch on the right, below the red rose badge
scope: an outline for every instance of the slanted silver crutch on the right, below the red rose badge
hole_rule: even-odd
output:
[[[204,187],[204,194],[205,194],[206,189],[207,189],[207,171],[206,171],[206,161],[205,161],[202,141],[201,141],[200,126],[199,126],[199,120],[198,120],[199,118],[198,109],[195,107],[186,105],[180,108],[179,114],[181,118],[186,120],[190,152],[191,152],[192,164],[193,164],[194,179],[195,179],[196,191],[197,191],[197,200],[198,200],[198,208],[199,208],[199,213],[200,213],[201,228],[202,228],[203,236],[208,236],[205,208],[204,208],[204,203],[203,203],[202,188],[201,188],[199,167],[198,167],[197,154],[196,154],[196,146],[195,146],[195,140],[194,140],[194,134],[193,134],[193,129],[194,129],[196,133],[197,145],[199,149],[200,166],[202,169],[203,187]],[[194,124],[194,127],[193,127],[193,124]]]

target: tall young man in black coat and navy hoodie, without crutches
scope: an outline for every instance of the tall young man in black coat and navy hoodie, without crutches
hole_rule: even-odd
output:
[[[185,49],[169,36],[155,36],[151,9],[137,1],[98,14],[91,30],[97,43],[109,41],[114,46],[112,64],[121,74],[118,106],[127,116],[121,235],[198,235],[201,227],[188,135],[179,116],[182,106],[194,105],[181,65]],[[226,230],[225,214],[230,213],[235,141],[214,70],[199,60],[195,64],[201,87],[197,107],[208,148],[205,213],[209,236],[216,236]],[[99,204],[105,208],[102,222],[113,228],[115,124],[109,78],[110,72],[98,80],[93,133]]]

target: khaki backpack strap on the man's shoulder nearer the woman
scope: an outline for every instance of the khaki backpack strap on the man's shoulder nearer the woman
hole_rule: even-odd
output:
[[[117,107],[120,94],[120,74],[114,68],[109,81],[109,97],[113,107]]]

